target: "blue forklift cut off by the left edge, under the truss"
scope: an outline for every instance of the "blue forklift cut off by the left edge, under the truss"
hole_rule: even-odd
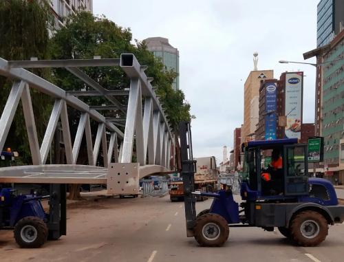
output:
[[[65,184],[51,184],[47,196],[21,195],[14,188],[0,188],[0,230],[14,230],[21,248],[40,248],[47,239],[59,239],[66,234],[65,195]],[[48,199],[49,212],[41,204],[43,199]]]

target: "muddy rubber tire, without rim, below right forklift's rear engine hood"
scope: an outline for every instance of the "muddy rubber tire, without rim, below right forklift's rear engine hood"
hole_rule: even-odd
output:
[[[302,221],[304,221],[305,219],[314,219],[319,223],[320,232],[316,237],[314,237],[314,239],[305,239],[305,237],[302,236],[299,230]],[[297,214],[290,223],[290,234],[291,234],[292,240],[298,245],[301,245],[304,247],[311,247],[311,246],[319,245],[321,242],[325,240],[328,234],[327,220],[319,212],[316,212],[313,210],[306,210],[306,211],[299,212],[299,214]]]

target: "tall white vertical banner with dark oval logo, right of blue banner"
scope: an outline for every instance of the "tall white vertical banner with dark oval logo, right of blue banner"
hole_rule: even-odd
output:
[[[286,138],[301,138],[303,72],[286,73]]]

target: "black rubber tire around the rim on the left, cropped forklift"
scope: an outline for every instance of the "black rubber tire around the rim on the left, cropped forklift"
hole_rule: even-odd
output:
[[[21,228],[26,225],[32,225],[37,230],[37,239],[31,243],[27,243],[21,239]],[[14,227],[14,239],[21,248],[40,248],[47,241],[47,236],[47,225],[39,217],[24,217]]]

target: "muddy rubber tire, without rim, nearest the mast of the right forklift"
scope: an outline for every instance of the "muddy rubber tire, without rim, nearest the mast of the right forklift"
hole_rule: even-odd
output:
[[[204,224],[208,222],[217,223],[217,225],[221,229],[220,236],[215,241],[209,241],[208,239],[204,239],[203,237],[202,228]],[[226,219],[224,219],[220,215],[208,213],[208,214],[202,215],[196,220],[194,232],[195,232],[195,239],[197,243],[199,243],[201,246],[220,247],[224,245],[224,243],[226,243],[228,239],[229,228],[228,228],[228,223]]]

